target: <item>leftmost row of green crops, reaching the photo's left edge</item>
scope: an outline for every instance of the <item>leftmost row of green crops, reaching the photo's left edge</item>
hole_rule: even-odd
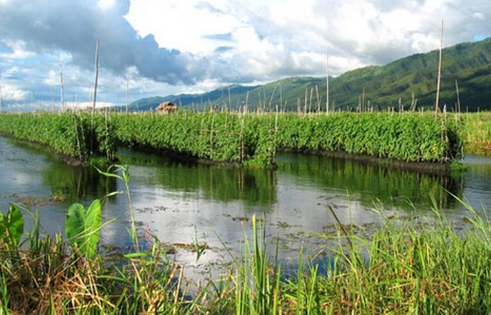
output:
[[[2,113],[0,134],[50,148],[87,162],[92,157],[113,160],[116,143],[107,117],[90,113]]]

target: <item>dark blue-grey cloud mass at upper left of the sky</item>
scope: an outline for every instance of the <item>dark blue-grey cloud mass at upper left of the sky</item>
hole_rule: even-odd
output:
[[[0,34],[19,38],[34,52],[64,50],[83,68],[93,65],[95,43],[100,40],[100,63],[115,73],[137,66],[142,76],[167,83],[194,83],[191,55],[160,48],[154,36],[140,37],[123,18],[129,1],[30,0],[1,5]],[[198,62],[203,62],[200,60]]]

